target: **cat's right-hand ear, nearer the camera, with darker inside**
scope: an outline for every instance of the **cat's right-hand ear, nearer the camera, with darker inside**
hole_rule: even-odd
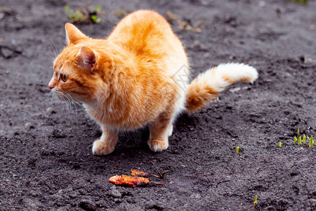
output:
[[[84,70],[92,72],[96,68],[96,53],[86,46],[81,46],[76,60]]]

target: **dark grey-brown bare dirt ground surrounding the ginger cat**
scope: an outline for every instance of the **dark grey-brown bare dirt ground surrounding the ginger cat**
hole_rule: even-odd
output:
[[[0,0],[0,210],[316,210],[316,146],[293,141],[298,127],[316,135],[316,1],[91,1],[104,12],[103,23],[78,25],[91,37],[109,34],[124,11],[171,11],[193,77],[227,62],[259,72],[181,115],[166,151],[152,153],[143,129],[120,134],[103,157],[91,153],[101,132],[84,110],[46,98],[65,4],[86,7]],[[170,172],[152,178],[163,185],[108,182],[131,169]]]

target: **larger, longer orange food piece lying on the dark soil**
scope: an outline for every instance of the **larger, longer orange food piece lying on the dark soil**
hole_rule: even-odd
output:
[[[145,184],[150,183],[149,179],[144,177],[135,177],[135,176],[113,176],[109,179],[110,182],[116,184],[116,185],[127,185],[132,186],[135,188],[136,186],[143,186]]]

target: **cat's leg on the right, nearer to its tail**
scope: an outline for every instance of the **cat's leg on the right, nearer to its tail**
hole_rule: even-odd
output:
[[[161,152],[168,148],[168,136],[172,133],[172,117],[173,112],[166,111],[150,125],[150,139],[147,143],[152,151]]]

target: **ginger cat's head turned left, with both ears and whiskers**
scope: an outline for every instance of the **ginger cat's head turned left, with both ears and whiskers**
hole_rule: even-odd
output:
[[[103,84],[98,62],[97,39],[91,39],[77,27],[65,25],[67,46],[54,60],[53,77],[48,87],[59,98],[90,103]],[[70,97],[71,96],[71,97]]]

